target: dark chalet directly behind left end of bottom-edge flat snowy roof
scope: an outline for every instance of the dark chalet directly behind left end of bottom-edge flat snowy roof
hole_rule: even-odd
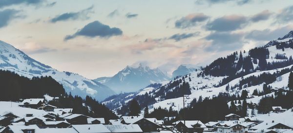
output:
[[[69,122],[72,125],[81,125],[81,124],[87,124],[87,118],[90,118],[90,117],[84,114],[71,114],[64,117],[63,119],[65,119],[67,122]]]

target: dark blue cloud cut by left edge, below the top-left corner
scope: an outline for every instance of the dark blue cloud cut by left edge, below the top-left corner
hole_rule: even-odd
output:
[[[12,19],[19,18],[18,13],[19,11],[14,9],[0,11],[0,28],[7,26]]]

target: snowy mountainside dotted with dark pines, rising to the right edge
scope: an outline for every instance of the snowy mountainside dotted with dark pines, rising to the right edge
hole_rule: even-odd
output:
[[[195,99],[201,101],[220,93],[242,95],[246,90],[247,102],[258,104],[263,96],[275,95],[275,90],[289,90],[289,74],[293,71],[292,33],[263,47],[220,57],[200,71],[150,85],[136,93],[107,98],[103,103],[121,114],[125,113],[128,101],[133,98],[142,108],[148,106],[150,111],[159,107],[178,110],[183,108],[183,95],[186,96],[186,106],[189,106]],[[253,95],[254,92],[259,94]]]

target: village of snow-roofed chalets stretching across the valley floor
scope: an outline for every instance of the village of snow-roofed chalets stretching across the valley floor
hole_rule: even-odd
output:
[[[24,99],[19,106],[43,110],[45,114],[0,114],[0,133],[293,133],[293,128],[283,123],[241,118],[236,114],[226,115],[225,121],[204,124],[199,120],[180,120],[165,125],[164,120],[142,116],[121,116],[105,121],[72,114],[73,109],[46,105],[44,99],[37,98]],[[274,112],[283,112],[283,109],[275,107]]]

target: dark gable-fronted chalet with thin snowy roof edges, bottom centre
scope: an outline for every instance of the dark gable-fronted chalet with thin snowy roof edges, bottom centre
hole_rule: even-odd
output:
[[[131,124],[137,124],[143,132],[156,132],[158,129],[162,129],[162,126],[156,124],[155,122],[150,121],[146,118],[141,118],[136,120],[135,122]]]

